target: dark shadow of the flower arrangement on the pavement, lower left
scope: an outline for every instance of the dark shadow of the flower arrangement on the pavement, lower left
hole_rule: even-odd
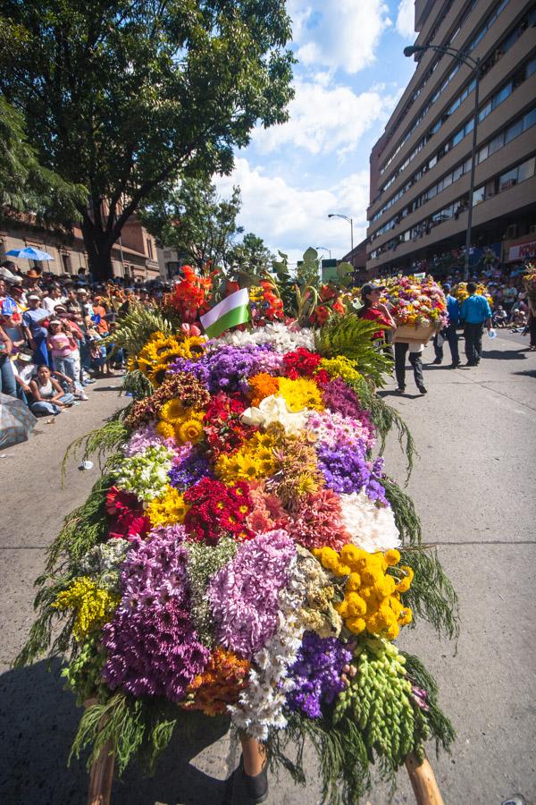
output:
[[[88,773],[85,760],[67,767],[81,710],[63,691],[60,663],[45,661],[0,676],[0,802],[85,805]],[[200,719],[197,731],[177,728],[154,778],[137,766],[113,783],[113,805],[220,805],[226,783],[190,764],[205,747],[227,733],[225,718]]]

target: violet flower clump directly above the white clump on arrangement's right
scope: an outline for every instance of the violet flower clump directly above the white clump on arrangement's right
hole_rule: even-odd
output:
[[[320,444],[316,448],[318,466],[322,470],[326,487],[339,495],[350,495],[364,489],[371,500],[389,505],[385,489],[381,486],[383,459],[366,460],[366,445],[362,440],[355,445],[330,447]]]

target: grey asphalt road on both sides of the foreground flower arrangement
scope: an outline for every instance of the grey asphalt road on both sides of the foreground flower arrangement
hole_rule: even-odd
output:
[[[441,704],[458,738],[452,756],[435,759],[446,805],[500,805],[515,792],[536,802],[536,675],[533,568],[536,560],[536,353],[527,340],[500,333],[485,340],[480,367],[448,370],[427,366],[429,394],[414,393],[408,367],[405,397],[384,394],[415,436],[420,460],[409,482],[428,542],[460,598],[462,631],[456,648],[438,640],[424,623],[405,630],[401,643],[420,656],[440,682]],[[448,352],[448,350],[447,350]],[[433,354],[428,348],[425,360]],[[448,361],[446,361],[448,362]],[[59,467],[72,438],[96,427],[124,401],[99,381],[90,402],[62,414],[54,425],[40,420],[29,443],[0,456],[4,505],[0,518],[0,802],[4,805],[82,805],[87,775],[82,762],[66,767],[80,713],[62,691],[58,665],[46,662],[10,670],[32,623],[32,581],[63,514],[79,504],[97,469],[71,465],[60,486]],[[392,439],[387,469],[404,478],[403,457]],[[125,774],[113,788],[114,805],[222,802],[224,780],[238,748],[212,724],[197,735],[178,734],[159,772],[144,780]],[[216,740],[220,738],[220,740]],[[272,805],[320,803],[317,763],[308,759],[309,784],[272,780]],[[371,805],[413,802],[404,770],[398,792],[377,785]]]

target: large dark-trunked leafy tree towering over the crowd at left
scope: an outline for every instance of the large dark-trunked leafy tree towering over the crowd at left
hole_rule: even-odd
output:
[[[0,92],[39,161],[88,188],[79,205],[96,277],[121,228],[177,177],[229,173],[256,123],[287,119],[284,0],[4,0],[24,47]]]

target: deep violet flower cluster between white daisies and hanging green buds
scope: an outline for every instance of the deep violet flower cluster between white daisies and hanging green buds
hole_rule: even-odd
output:
[[[345,688],[342,669],[352,659],[337,638],[321,638],[306,631],[297,660],[290,668],[294,689],[287,696],[292,710],[301,710],[309,718],[322,716],[322,703],[331,702]]]

